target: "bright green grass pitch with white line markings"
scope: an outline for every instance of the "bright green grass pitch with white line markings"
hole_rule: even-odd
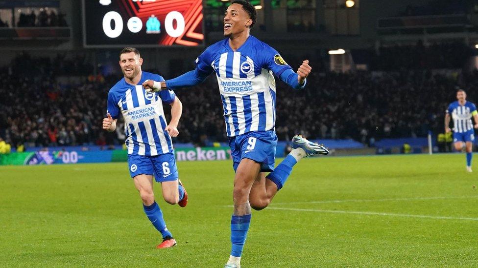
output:
[[[178,168],[187,207],[155,184],[178,241],[160,250],[126,163],[0,166],[0,267],[223,267],[231,163]],[[242,267],[477,267],[476,173],[463,154],[304,159],[253,212]]]

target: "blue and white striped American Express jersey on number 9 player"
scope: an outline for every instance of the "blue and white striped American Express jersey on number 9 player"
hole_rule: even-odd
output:
[[[275,49],[249,36],[233,51],[224,39],[209,46],[196,64],[204,73],[215,71],[229,137],[274,128],[274,74],[292,69]]]

